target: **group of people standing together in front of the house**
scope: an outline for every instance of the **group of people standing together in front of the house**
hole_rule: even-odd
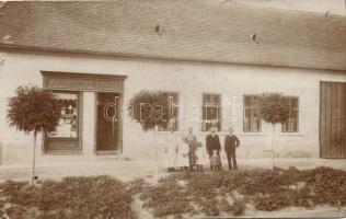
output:
[[[181,137],[174,131],[174,127],[169,127],[169,129],[170,135],[165,147],[168,171],[194,171],[194,168],[196,168],[196,171],[203,171],[205,152],[203,143],[197,141],[193,134],[193,128],[189,127],[187,134]],[[230,171],[238,170],[235,149],[239,146],[239,138],[233,134],[233,129],[229,128],[229,132],[224,138],[224,152]],[[206,136],[206,149],[209,155],[210,170],[220,171],[222,166],[220,159],[221,143],[215,127],[211,127],[210,132]]]

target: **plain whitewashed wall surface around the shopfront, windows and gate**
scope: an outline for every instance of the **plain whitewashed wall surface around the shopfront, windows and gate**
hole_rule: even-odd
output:
[[[270,149],[272,127],[263,123],[262,132],[243,132],[243,95],[263,92],[281,92],[285,95],[299,96],[299,132],[281,134],[278,127],[277,151],[280,157],[319,157],[319,106],[320,81],[344,81],[345,72],[307,70],[293,68],[241,66],[229,64],[194,62],[148,58],[77,56],[47,53],[5,51],[5,61],[1,68],[0,124],[3,164],[27,164],[31,158],[32,137],[8,127],[5,120],[7,99],[14,94],[19,85],[42,87],[42,70],[82,73],[107,73],[128,76],[125,80],[124,103],[142,89],[178,92],[181,107],[201,105],[203,93],[221,94],[222,103],[227,99],[235,100],[235,122],[222,122],[221,143],[229,126],[234,127],[240,137],[240,158],[263,158]],[[42,154],[37,147],[37,162],[81,162],[97,160],[94,153],[94,103],[93,92],[83,93],[83,152],[81,154],[49,155]],[[227,104],[226,104],[227,105]],[[232,106],[224,116],[232,117]],[[182,111],[182,114],[193,114]],[[194,127],[204,143],[205,132],[199,131],[198,120],[182,120],[180,131]],[[125,113],[123,154],[134,159],[154,159],[154,135],[143,132],[138,124],[131,122]],[[165,132],[158,136],[161,149]],[[38,138],[39,139],[39,138]]]

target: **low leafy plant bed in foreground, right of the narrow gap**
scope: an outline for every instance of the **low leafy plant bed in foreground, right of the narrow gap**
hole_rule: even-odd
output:
[[[180,182],[186,183],[182,186]],[[346,172],[321,166],[305,171],[256,169],[235,175],[176,173],[146,189],[141,199],[145,207],[153,209],[155,217],[197,212],[218,216],[221,211],[240,216],[246,204],[264,211],[285,207],[346,206]],[[239,197],[232,195],[234,193]],[[233,197],[232,203],[226,200],[229,196]]]

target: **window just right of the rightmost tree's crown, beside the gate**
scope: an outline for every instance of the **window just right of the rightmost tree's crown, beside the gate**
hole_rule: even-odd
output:
[[[298,115],[299,115],[299,101],[298,97],[287,97],[290,112],[289,118],[287,123],[282,124],[281,131],[282,132],[298,132]]]

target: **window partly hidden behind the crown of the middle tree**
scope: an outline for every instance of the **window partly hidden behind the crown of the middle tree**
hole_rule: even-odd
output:
[[[177,131],[178,130],[178,113],[180,113],[178,112],[178,108],[180,108],[178,93],[165,92],[164,95],[166,95],[166,97],[169,100],[169,120],[171,120],[171,118],[175,118],[174,119],[174,130]],[[169,127],[160,127],[159,130],[160,131],[168,131]]]

